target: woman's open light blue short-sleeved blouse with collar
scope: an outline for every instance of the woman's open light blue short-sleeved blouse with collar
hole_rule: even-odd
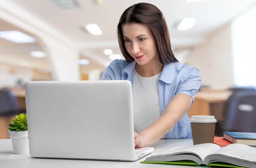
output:
[[[128,63],[126,60],[114,60],[105,69],[100,80],[129,80],[133,85],[135,64],[135,61]],[[176,94],[187,94],[194,100],[200,85],[201,73],[197,68],[183,63],[164,65],[158,79],[160,115]],[[192,138],[187,112],[165,138]]]

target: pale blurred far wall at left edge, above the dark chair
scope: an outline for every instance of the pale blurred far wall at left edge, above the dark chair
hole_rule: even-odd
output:
[[[13,70],[13,72],[12,72]],[[32,80],[33,71],[27,68],[12,68],[9,65],[0,65],[0,88],[14,87],[17,80],[23,83]]]

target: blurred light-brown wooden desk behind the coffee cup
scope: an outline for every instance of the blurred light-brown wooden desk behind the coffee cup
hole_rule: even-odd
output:
[[[198,91],[188,115],[213,115],[218,121],[223,120],[223,109],[227,99],[231,96],[232,91],[227,90],[205,90]]]

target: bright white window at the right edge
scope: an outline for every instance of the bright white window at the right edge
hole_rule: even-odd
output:
[[[232,23],[234,83],[256,86],[256,7]]]

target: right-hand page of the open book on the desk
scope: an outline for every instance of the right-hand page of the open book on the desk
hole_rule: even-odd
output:
[[[227,145],[221,150],[215,151],[213,154],[221,154],[228,157],[235,157],[250,162],[256,162],[256,148],[237,143]]]

